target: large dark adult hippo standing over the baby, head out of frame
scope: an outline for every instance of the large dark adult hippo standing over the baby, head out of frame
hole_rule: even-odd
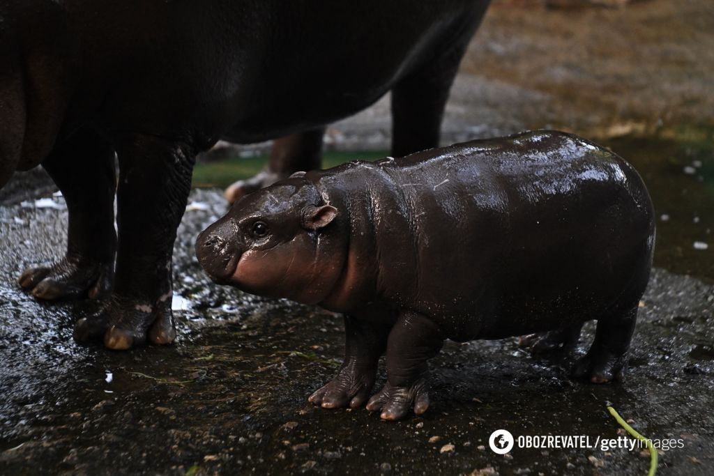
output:
[[[42,164],[69,209],[66,256],[19,284],[43,300],[103,299],[76,324],[80,342],[170,343],[171,251],[196,154],[280,138],[262,186],[318,166],[325,126],[388,91],[395,153],[436,146],[487,6],[0,1],[0,186]]]

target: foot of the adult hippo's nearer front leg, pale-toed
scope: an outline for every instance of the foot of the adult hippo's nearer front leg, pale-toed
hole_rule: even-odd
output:
[[[169,344],[176,338],[171,294],[153,305],[136,303],[113,295],[99,313],[81,318],[74,325],[74,340],[89,343],[104,339],[104,346],[126,350],[149,341]]]

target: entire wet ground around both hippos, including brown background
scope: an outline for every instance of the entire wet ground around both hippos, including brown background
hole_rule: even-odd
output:
[[[76,345],[72,325],[95,304],[37,303],[15,283],[26,265],[64,250],[64,203],[33,172],[0,192],[0,474],[645,474],[639,450],[516,447],[500,456],[488,447],[500,428],[591,443],[618,437],[608,402],[643,435],[682,440],[660,452],[660,474],[712,474],[706,3],[555,16],[510,3],[518,2],[489,13],[480,33],[487,47],[476,41],[470,51],[446,138],[558,126],[602,141],[642,173],[658,213],[656,268],[623,382],[569,378],[590,326],[573,353],[548,358],[514,339],[448,343],[432,362],[432,405],[422,417],[386,423],[366,410],[315,408],[306,398],[339,365],[341,318],[213,285],[193,257],[198,231],[224,211],[210,190],[193,191],[178,233],[176,345],[126,353]],[[334,128],[333,143],[383,148],[385,104]]]

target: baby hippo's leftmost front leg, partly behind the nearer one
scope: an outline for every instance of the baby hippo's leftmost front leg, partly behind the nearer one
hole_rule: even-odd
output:
[[[345,359],[335,378],[310,395],[323,408],[361,407],[374,386],[379,358],[389,335],[388,325],[345,316]]]

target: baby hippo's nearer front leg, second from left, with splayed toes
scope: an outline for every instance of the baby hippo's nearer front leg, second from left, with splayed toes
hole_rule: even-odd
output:
[[[429,407],[427,361],[438,354],[444,337],[425,316],[401,313],[387,343],[387,383],[371,397],[367,410],[381,410],[383,420],[400,420],[414,406],[421,415]]]

